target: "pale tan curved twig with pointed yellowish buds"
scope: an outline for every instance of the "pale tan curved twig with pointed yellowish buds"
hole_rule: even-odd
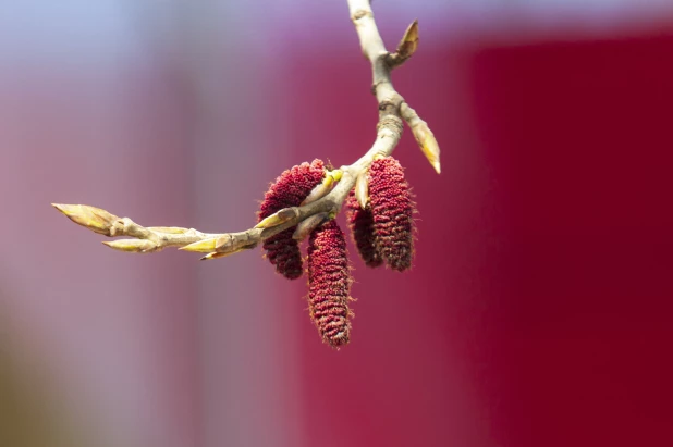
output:
[[[371,63],[372,92],[379,109],[377,136],[371,148],[351,165],[338,171],[338,181],[333,189],[309,203],[280,210],[262,222],[238,233],[208,234],[194,228],[179,227],[144,227],[129,218],[118,218],[108,211],[82,204],[53,204],[73,222],[106,236],[127,236],[132,239],[121,239],[103,243],[110,248],[129,252],[155,252],[166,247],[180,247],[187,251],[209,253],[203,259],[215,259],[237,253],[257,246],[261,240],[271,237],[286,228],[314,216],[334,216],[341,210],[348,191],[355,186],[358,177],[363,178],[367,169],[377,157],[390,156],[402,137],[403,121],[405,121],[423,152],[439,173],[439,147],[427,123],[406,104],[404,98],[394,89],[391,80],[392,69],[408,60],[418,47],[418,22],[414,21],[406,29],[397,50],[390,53],[386,50],[379,34],[369,0],[347,0],[351,20],[359,37],[365,57]],[[364,200],[360,198],[364,204]],[[318,222],[317,219],[311,221]],[[310,227],[307,222],[304,227]],[[297,237],[305,236],[306,229],[297,232]]]

